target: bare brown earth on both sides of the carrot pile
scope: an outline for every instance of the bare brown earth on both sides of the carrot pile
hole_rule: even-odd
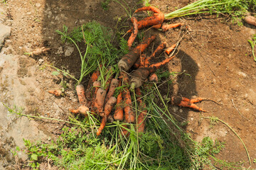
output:
[[[74,28],[95,20],[114,31],[128,29],[124,27],[117,30],[120,26],[130,26],[127,21],[128,15],[122,6],[111,1],[109,10],[105,11],[100,2],[100,0],[24,0],[22,2],[10,0],[6,4],[1,3],[0,7],[4,9],[1,13],[1,22],[11,26],[11,36],[6,40],[2,50],[4,55],[0,58],[16,56],[10,58],[4,66],[0,65],[1,101],[22,106],[27,114],[67,118],[68,108],[78,106],[73,91],[74,82],[60,75],[51,75],[54,69],[43,67],[43,64],[54,64],[58,68],[68,69],[75,76],[79,75],[80,58],[75,47],[63,44],[60,36],[55,33],[57,29],[62,30],[64,24]],[[135,8],[142,6],[137,1],[129,1],[127,4],[132,12]],[[150,4],[158,6],[164,13],[169,13],[174,11],[175,7],[185,6],[188,1],[154,0],[150,1]],[[119,19],[121,22],[117,23]],[[172,45],[182,38],[176,59],[169,64],[169,69],[184,73],[176,79],[171,95],[177,93],[178,96],[187,98],[195,96],[212,98],[222,105],[203,101],[198,103],[198,106],[208,113],[200,113],[189,108],[171,106],[170,103],[169,110],[178,121],[188,121],[188,125],[184,128],[194,140],[200,142],[203,137],[210,136],[225,142],[225,149],[217,155],[218,158],[228,162],[240,162],[242,166],[248,167],[245,148],[232,130],[223,123],[211,125],[210,120],[203,117],[214,116],[228,123],[245,143],[251,162],[256,159],[254,133],[256,130],[254,125],[256,65],[252,58],[251,47],[247,42],[256,33],[256,29],[246,23],[244,26],[237,26],[230,23],[227,18],[215,18],[215,16],[193,16],[166,21],[166,23],[177,22],[185,23],[191,31],[176,28],[166,33],[159,30],[145,32],[146,35],[151,35],[152,32],[157,33],[154,47],[159,45],[160,41],[166,41]],[[40,57],[23,55],[24,52],[43,46],[50,47],[50,52]],[[68,52],[72,52],[71,55]],[[12,62],[16,62],[16,65],[14,64],[14,69],[10,70],[8,63]],[[15,77],[12,80],[13,83],[10,77]],[[48,94],[47,90],[60,87],[58,84],[61,80],[70,84],[67,96],[55,98]],[[10,89],[10,84],[15,85],[13,89]],[[166,93],[164,86],[161,86],[162,94]],[[17,96],[14,93],[16,87],[23,91],[22,95]],[[170,98],[171,95],[166,98]],[[19,119],[14,120],[14,123],[21,121]],[[58,135],[63,123],[37,120],[36,127],[44,134],[53,137]],[[8,151],[18,145],[18,140],[11,142],[13,140],[10,140],[11,138],[7,135],[10,131],[11,128],[7,128],[6,131],[1,132],[1,150]],[[26,138],[26,135],[23,138]],[[6,152],[1,153],[1,156],[6,157],[3,158],[4,168],[11,169],[18,164],[17,160],[11,158],[11,154],[3,153]],[[252,163],[251,169],[256,169],[256,165]]]

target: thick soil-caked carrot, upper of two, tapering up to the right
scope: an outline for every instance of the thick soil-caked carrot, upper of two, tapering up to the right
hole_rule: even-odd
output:
[[[137,47],[134,47],[131,51],[124,55],[122,59],[118,62],[118,67],[120,70],[128,71],[132,65],[138,60],[139,55],[144,52],[146,47],[156,38],[156,35],[152,35],[150,38],[144,40]]]

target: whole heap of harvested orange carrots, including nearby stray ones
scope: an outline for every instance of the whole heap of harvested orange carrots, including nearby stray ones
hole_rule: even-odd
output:
[[[158,47],[156,47],[156,50],[154,50],[151,55],[146,56],[144,51],[149,47],[151,42],[156,39],[156,35],[151,35],[149,38],[145,38],[143,42],[139,43],[137,47],[132,47],[132,44],[137,37],[138,30],[141,30],[142,28],[152,26],[166,31],[170,28],[183,25],[182,23],[163,25],[164,13],[161,13],[161,11],[154,6],[139,8],[135,13],[140,11],[152,11],[154,14],[153,16],[146,17],[141,21],[137,21],[137,18],[134,17],[131,18],[133,26],[127,31],[128,33],[132,33],[127,41],[129,52],[118,62],[119,73],[117,73],[117,75],[119,75],[119,77],[117,78],[116,75],[116,79],[114,79],[111,76],[107,79],[105,86],[102,86],[102,83],[97,81],[98,78],[101,77],[100,71],[97,69],[90,77],[86,90],[82,84],[78,84],[76,86],[80,106],[78,109],[70,110],[70,112],[74,114],[80,113],[85,117],[87,117],[88,113],[92,113],[92,115],[100,118],[101,123],[100,127],[97,129],[97,135],[102,133],[107,120],[110,120],[111,118],[116,121],[127,123],[124,125],[124,128],[122,128],[122,135],[124,136],[129,135],[127,130],[129,128],[128,124],[136,124],[137,132],[144,132],[147,108],[139,88],[143,85],[144,81],[148,79],[148,77],[149,81],[157,82],[158,78],[156,74],[154,74],[156,69],[167,64],[175,57],[166,57],[166,59],[161,62],[151,64],[151,60],[154,59],[154,57],[161,54],[169,55],[176,47],[176,45],[171,45],[171,47],[168,47],[165,50],[167,43],[162,42]],[[165,53],[163,52],[164,50]],[[128,74],[128,72],[130,74]],[[114,91],[116,91],[117,87],[121,90],[118,91],[116,98],[114,97]],[[134,98],[134,100],[139,104],[137,108],[138,112],[134,111],[134,101],[132,101],[130,89],[136,93],[136,98]],[[56,96],[60,96],[61,91],[49,92]],[[177,106],[193,106],[193,108],[198,111],[203,111],[201,108],[196,108],[193,104],[200,100],[189,100],[188,98],[181,98],[178,100],[177,98],[173,98],[172,101]]]

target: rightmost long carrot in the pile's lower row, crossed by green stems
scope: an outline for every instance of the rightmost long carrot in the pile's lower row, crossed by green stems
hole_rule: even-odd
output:
[[[139,115],[137,118],[137,132],[141,133],[144,132],[145,123],[146,123],[146,104],[142,101],[142,93],[139,88],[135,89],[135,92],[137,94],[137,101],[139,103]]]

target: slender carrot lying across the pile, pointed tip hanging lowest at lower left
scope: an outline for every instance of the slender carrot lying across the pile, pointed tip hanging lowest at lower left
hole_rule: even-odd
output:
[[[117,98],[112,96],[112,97],[110,97],[110,99],[105,104],[105,108],[104,108],[105,116],[102,117],[102,122],[100,123],[100,128],[97,130],[97,136],[100,135],[103,128],[105,127],[105,125],[107,123],[107,117],[108,117],[108,115],[110,115],[110,112],[112,111],[112,108],[114,107],[114,104],[116,102],[117,102]]]

